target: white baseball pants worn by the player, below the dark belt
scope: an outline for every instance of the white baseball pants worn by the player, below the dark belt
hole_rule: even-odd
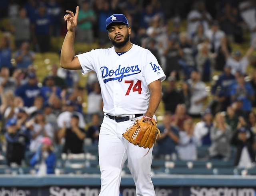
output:
[[[117,123],[104,116],[99,135],[99,196],[119,196],[121,171],[126,159],[135,182],[136,196],[156,195],[151,181],[152,148],[148,152],[148,149],[135,146],[122,137],[133,123],[134,120]]]

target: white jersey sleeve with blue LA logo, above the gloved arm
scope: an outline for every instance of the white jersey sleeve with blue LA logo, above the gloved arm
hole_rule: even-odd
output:
[[[164,71],[159,65],[156,57],[149,50],[146,54],[146,63],[143,70],[147,85],[158,79],[162,82],[166,78],[166,75],[164,74]]]

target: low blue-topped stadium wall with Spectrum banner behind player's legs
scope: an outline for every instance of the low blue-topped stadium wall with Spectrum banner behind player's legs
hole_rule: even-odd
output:
[[[156,196],[256,196],[256,176],[156,175]],[[98,196],[99,175],[0,176],[0,196]],[[136,196],[123,176],[120,196]]]

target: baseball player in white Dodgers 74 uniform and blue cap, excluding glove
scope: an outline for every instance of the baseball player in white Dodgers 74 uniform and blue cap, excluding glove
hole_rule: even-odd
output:
[[[112,47],[75,56],[78,11],[77,6],[75,14],[67,10],[64,16],[68,32],[61,49],[60,66],[80,69],[82,74],[95,71],[100,83],[104,103],[98,145],[100,196],[119,196],[121,171],[126,159],[136,185],[136,195],[155,196],[150,172],[152,148],[148,152],[148,149],[135,146],[122,134],[136,119],[155,118],[162,96],[161,81],[166,78],[164,71],[149,50],[130,42],[131,28],[123,14],[113,14],[106,19]]]

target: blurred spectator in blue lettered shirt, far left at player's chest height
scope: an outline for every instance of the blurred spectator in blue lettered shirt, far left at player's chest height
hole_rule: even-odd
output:
[[[36,74],[28,74],[28,82],[17,88],[15,95],[24,100],[24,106],[30,107],[34,103],[34,98],[40,94],[40,88],[37,85]]]

